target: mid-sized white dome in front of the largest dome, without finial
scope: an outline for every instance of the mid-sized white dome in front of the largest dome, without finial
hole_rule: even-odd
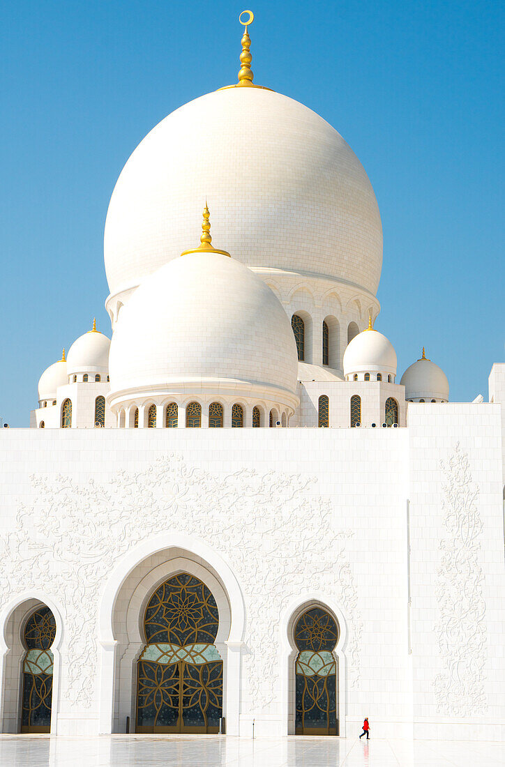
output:
[[[190,252],[145,278],[111,342],[111,404],[141,393],[215,393],[296,406],[291,324],[272,290],[218,252]]]

